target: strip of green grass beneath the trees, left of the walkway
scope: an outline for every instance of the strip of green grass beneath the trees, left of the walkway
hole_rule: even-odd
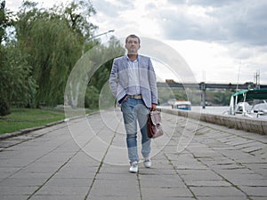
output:
[[[32,108],[12,108],[8,116],[0,116],[0,134],[42,126],[65,118],[64,111]]]

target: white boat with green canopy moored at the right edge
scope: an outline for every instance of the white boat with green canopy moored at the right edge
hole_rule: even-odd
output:
[[[243,90],[232,94],[229,114],[267,119],[267,88]]]

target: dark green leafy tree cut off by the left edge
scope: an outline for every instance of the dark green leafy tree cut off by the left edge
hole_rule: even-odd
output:
[[[6,28],[13,26],[13,13],[0,3],[0,116],[10,113],[11,104],[16,101],[26,106],[36,92],[36,83],[31,76],[31,67],[16,43],[8,36]]]

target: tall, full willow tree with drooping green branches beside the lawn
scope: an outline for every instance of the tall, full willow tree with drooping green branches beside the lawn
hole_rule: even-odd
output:
[[[84,1],[63,4],[53,9],[38,8],[24,2],[18,12],[16,32],[21,52],[28,55],[36,79],[36,105],[63,103],[63,94],[71,69],[91,36],[93,26],[88,17],[95,13]]]

